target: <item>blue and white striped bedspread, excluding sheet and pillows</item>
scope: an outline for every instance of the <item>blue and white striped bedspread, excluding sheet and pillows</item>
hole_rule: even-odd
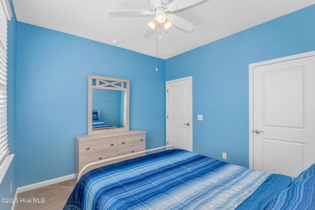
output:
[[[64,210],[231,210],[270,176],[186,150],[165,150],[86,173]]]

